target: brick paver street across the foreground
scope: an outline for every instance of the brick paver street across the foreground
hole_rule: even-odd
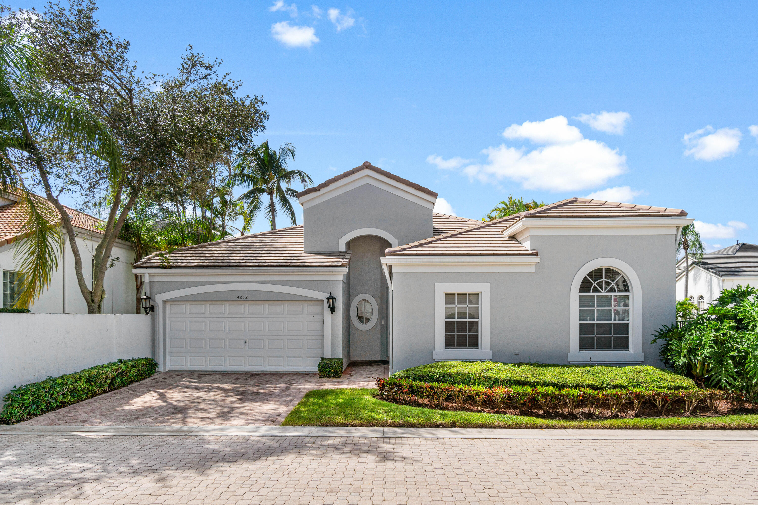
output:
[[[0,435],[0,503],[758,503],[758,442]]]

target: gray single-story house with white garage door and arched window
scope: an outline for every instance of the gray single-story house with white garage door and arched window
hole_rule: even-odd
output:
[[[482,223],[435,214],[437,193],[368,161],[297,198],[302,226],[136,263],[161,369],[659,365],[684,210],[569,198]]]

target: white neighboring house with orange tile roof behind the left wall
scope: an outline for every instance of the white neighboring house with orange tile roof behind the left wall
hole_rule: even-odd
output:
[[[38,197],[39,198],[39,197]],[[49,204],[39,198],[41,202]],[[0,195],[0,270],[2,270],[2,307],[11,307],[18,297],[20,273],[14,260],[15,244],[23,240],[23,216],[18,197],[4,193]],[[49,204],[52,205],[52,204]],[[83,274],[87,285],[92,288],[92,254],[95,252],[102,234],[97,226],[101,221],[78,210],[68,208],[69,216],[77,232],[77,245],[82,257]],[[57,213],[57,211],[56,211]],[[61,225],[62,228],[62,225]],[[64,248],[58,257],[58,270],[52,275],[48,288],[30,307],[32,312],[44,313],[86,313],[87,306],[79,289],[74,270],[74,254],[70,249],[70,237],[62,229]],[[129,242],[117,240],[111,254],[114,266],[105,273],[105,293],[102,304],[105,313],[134,313],[136,310],[136,288],[131,272],[134,250]]]

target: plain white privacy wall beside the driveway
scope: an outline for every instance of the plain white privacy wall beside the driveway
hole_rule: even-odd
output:
[[[152,316],[0,313],[0,403],[16,385],[152,357]]]

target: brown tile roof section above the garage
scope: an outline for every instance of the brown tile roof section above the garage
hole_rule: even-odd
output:
[[[302,225],[154,253],[136,268],[346,267],[348,252],[306,253]]]

